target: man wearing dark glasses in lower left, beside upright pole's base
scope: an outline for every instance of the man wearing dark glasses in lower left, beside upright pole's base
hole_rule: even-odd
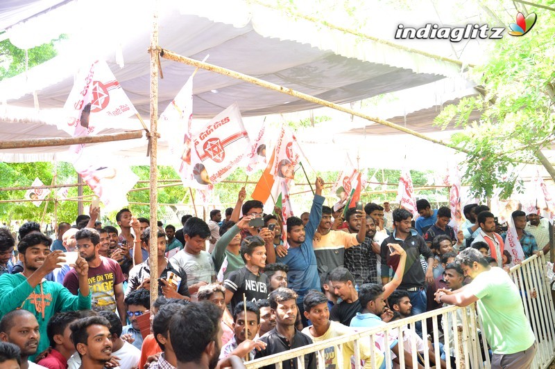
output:
[[[151,308],[151,293],[148,289],[135,289],[126,297],[127,319],[130,324],[123,327],[121,339],[128,341],[141,350],[143,336],[137,322],[137,317],[148,312]]]

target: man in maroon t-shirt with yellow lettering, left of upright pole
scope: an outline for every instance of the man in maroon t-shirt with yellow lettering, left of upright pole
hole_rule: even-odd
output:
[[[126,306],[123,302],[123,273],[121,267],[112,259],[99,255],[100,235],[92,228],[83,228],[75,235],[77,251],[89,264],[89,288],[92,292],[92,309],[97,307],[119,313],[121,324],[127,325]],[[78,276],[75,270],[69,271],[63,285],[77,294]]]

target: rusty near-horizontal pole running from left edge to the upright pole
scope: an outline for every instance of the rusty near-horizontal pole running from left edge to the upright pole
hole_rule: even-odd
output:
[[[0,150],[26,149],[28,147],[66,146],[85,143],[125,141],[142,138],[143,131],[132,131],[96,136],[33,138],[31,140],[0,141]]]

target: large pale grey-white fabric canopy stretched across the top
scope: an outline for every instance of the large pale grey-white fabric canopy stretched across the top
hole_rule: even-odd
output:
[[[135,6],[133,1],[121,2]],[[84,7],[86,3],[83,0],[78,5]],[[96,1],[94,8],[90,10],[91,17],[96,15],[95,9],[102,8],[103,3],[106,1]],[[219,2],[207,1],[205,6],[214,8],[216,3]],[[168,1],[164,4],[167,7],[160,14],[159,42],[163,48],[196,60],[203,60],[206,55],[210,55],[207,62],[211,64],[253,75],[331,102],[362,100],[459,73],[456,65],[421,55],[416,57],[391,46],[368,42],[357,44],[354,39],[341,42],[343,33],[324,30],[316,24],[302,24],[299,29],[289,20],[286,27],[270,28],[268,24],[275,26],[271,21],[275,18],[275,12],[255,14],[246,25],[237,28],[232,24],[190,14],[191,11],[182,15],[179,12],[180,2]],[[61,8],[70,6],[76,5],[69,3]],[[121,4],[119,6],[123,8]],[[58,9],[56,13],[61,11]],[[96,50],[98,46],[100,51],[97,55],[108,60],[114,75],[139,113],[146,116],[150,88],[149,58],[146,51],[151,27],[151,21],[147,21],[148,12],[146,13],[132,13],[131,19],[128,19],[131,15],[122,17],[118,14],[115,28],[91,27],[90,34],[86,35],[80,30],[80,38],[70,42],[71,47],[66,53],[60,53],[53,60],[31,69],[27,75],[0,82],[0,100],[10,105],[33,107],[32,93],[36,91],[41,108],[61,107],[74,82],[78,66],[83,66],[85,62],[83,55],[90,51],[89,48],[94,47]],[[102,22],[110,24],[111,17],[111,12],[104,14]],[[65,18],[68,18],[67,15]],[[76,17],[73,18],[75,20]],[[37,17],[36,21],[39,22],[40,19],[41,17]],[[232,20],[233,16],[230,15],[230,21]],[[265,21],[269,23],[266,24]],[[257,32],[253,22],[257,24],[257,28],[264,29],[263,35]],[[33,35],[33,24],[31,21],[28,23],[28,28],[22,27],[20,33]],[[42,23],[44,20],[40,22]],[[133,28],[133,32],[130,32],[130,28]],[[116,30],[121,30],[121,33]],[[295,30],[299,32],[295,33]],[[300,40],[294,38],[295,35]],[[103,45],[98,39],[108,45]],[[83,45],[88,47],[84,48]],[[116,57],[120,53],[120,57]],[[123,60],[123,69],[117,66],[117,59]],[[159,109],[164,109],[176,96],[194,68],[163,60],[162,70],[164,79],[159,82]],[[316,107],[310,102],[216,73],[199,71],[196,74],[195,117],[212,118],[233,102],[239,104],[243,116],[278,114]]]

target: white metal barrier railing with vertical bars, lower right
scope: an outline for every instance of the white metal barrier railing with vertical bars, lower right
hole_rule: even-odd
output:
[[[555,312],[551,295],[551,288],[545,278],[545,258],[543,255],[540,257],[534,255],[522,262],[522,264],[513,267],[510,271],[511,278],[515,281],[520,289],[522,300],[524,303],[524,312],[531,321],[532,329],[536,335],[536,342],[538,343],[538,351],[532,368],[547,368],[549,363],[555,358]],[[533,298],[531,292],[536,290],[537,296]],[[326,341],[313,343],[311,345],[296,348],[280,354],[273,354],[268,357],[248,361],[245,363],[248,369],[257,369],[263,366],[275,364],[275,368],[282,369],[282,361],[294,359],[297,362],[299,369],[305,368],[304,355],[314,352],[318,361],[318,369],[324,368],[326,348],[335,347],[337,363],[341,366],[343,363],[343,354],[341,352],[342,344],[352,342],[355,348],[355,369],[362,368],[360,360],[360,347],[361,345],[369,345],[370,357],[375,357],[375,336],[380,334],[384,336],[385,347],[389,347],[390,334],[397,336],[398,348],[400,355],[398,357],[399,367],[405,368],[411,366],[418,367],[420,363],[425,368],[434,368],[430,366],[429,350],[424,352],[417,352],[416,348],[416,330],[415,323],[420,321],[422,323],[422,336],[427,337],[426,320],[432,318],[432,341],[434,342],[434,361],[440,363],[440,347],[439,342],[444,343],[443,350],[445,351],[445,368],[472,368],[472,369],[487,369],[490,368],[490,355],[488,352],[488,345],[485,336],[479,334],[483,331],[483,325],[479,316],[475,312],[475,305],[468,307],[449,306],[441,309],[432,310],[416,316],[410,316],[400,321],[390,322],[383,327],[376,327],[368,330],[358,330],[352,334],[336,337]],[[459,314],[459,322],[462,320],[462,327],[457,323],[457,313]],[[456,329],[444,329],[443,338],[440,340],[440,330],[438,330],[438,317],[443,318],[444,322],[450,322],[450,327],[457,327]],[[407,330],[412,333],[409,334]],[[410,339],[408,345],[405,345],[403,332],[409,334]],[[454,361],[455,366],[452,366],[450,361],[450,341],[453,342],[454,348]],[[427,341],[425,341],[427,343]],[[408,347],[407,347],[408,346]],[[404,350],[410,352],[410,363],[405,361],[405,357],[401,354]],[[420,358],[420,361],[419,361]],[[391,368],[391,351],[385,350],[386,368]],[[371,361],[370,367],[377,369],[374,360]],[[407,365],[405,365],[407,364]],[[436,365],[440,368],[439,364]]]

